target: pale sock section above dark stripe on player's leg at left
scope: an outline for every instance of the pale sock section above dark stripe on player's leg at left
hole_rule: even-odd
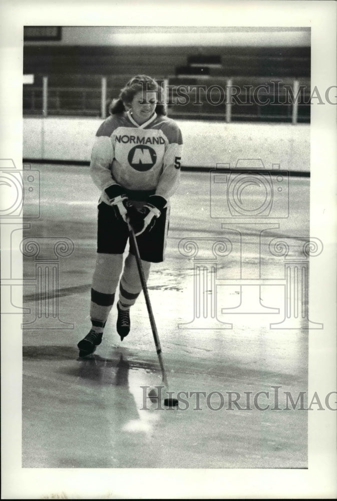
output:
[[[97,254],[92,288],[103,294],[115,294],[123,267],[123,254]]]

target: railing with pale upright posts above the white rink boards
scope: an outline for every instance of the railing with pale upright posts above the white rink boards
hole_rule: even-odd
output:
[[[161,80],[168,115],[181,119],[277,121],[297,124],[310,121],[308,79],[212,78],[184,83],[170,77]],[[206,85],[207,84],[207,85]],[[263,92],[262,92],[263,91]],[[119,88],[108,87],[101,77],[96,87],[24,86],[24,115],[92,116],[105,119]]]

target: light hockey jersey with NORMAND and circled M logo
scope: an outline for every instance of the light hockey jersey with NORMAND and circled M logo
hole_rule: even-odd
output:
[[[129,111],[110,116],[98,129],[90,172],[107,203],[104,190],[112,184],[123,186],[130,198],[144,192],[168,200],[179,183],[181,153],[181,131],[172,119],[155,113],[139,125]]]

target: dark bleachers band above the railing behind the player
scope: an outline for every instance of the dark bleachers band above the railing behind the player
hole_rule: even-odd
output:
[[[221,68],[211,68],[212,76],[309,77],[310,47],[210,47]],[[24,73],[48,74],[62,80],[67,74],[90,78],[145,73],[155,78],[174,76],[188,57],[198,55],[191,47],[24,47]],[[124,79],[123,79],[124,81]]]

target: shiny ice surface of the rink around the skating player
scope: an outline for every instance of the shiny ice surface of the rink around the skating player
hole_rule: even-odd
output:
[[[31,168],[41,215],[24,231],[23,467],[306,468],[307,412],[293,410],[286,392],[296,401],[307,391],[309,177],[283,184],[289,205],[274,202],[288,212],[249,219],[226,206],[228,177],[221,194],[214,173],[181,173],[166,259],[148,282],[170,390],[184,392],[170,409],[146,398],[162,376],[143,294],[123,342],[114,305],[102,344],[78,358],[90,329],[99,192],[87,166]],[[242,193],[251,210],[254,193],[260,187]],[[68,250],[55,258],[58,241]],[[288,277],[286,260],[304,265]],[[288,287],[301,294],[291,305]]]

